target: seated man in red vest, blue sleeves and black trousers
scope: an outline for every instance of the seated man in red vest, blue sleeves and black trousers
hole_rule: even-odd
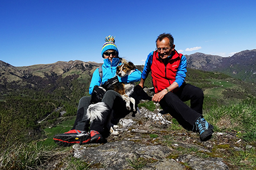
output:
[[[162,33],[156,39],[156,50],[147,56],[139,86],[151,71],[155,95],[152,101],[159,103],[188,130],[197,131],[201,141],[207,141],[213,133],[213,126],[203,118],[203,91],[185,83],[187,59],[175,50],[174,38]],[[189,108],[183,101],[191,100]]]

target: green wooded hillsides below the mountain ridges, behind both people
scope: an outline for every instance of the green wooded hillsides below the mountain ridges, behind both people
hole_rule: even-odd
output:
[[[89,82],[90,77],[85,75],[67,75],[64,78],[56,76],[54,83],[42,87],[20,88],[15,84],[7,84],[12,90],[0,96],[2,141],[8,145],[17,141],[45,138],[43,129],[60,122],[61,111],[66,112],[64,117],[76,115],[79,99],[89,95]],[[186,82],[203,89],[205,111],[256,96],[254,84],[221,73],[188,69]],[[150,77],[145,85],[152,87]],[[61,109],[55,112],[58,108]],[[46,117],[46,120],[38,123]]]

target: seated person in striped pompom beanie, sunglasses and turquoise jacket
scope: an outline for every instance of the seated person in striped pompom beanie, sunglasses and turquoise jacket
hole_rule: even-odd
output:
[[[86,143],[102,143],[105,141],[105,137],[109,134],[109,128],[107,127],[107,121],[112,113],[112,122],[115,119],[119,120],[122,116],[129,113],[126,109],[126,103],[123,101],[121,95],[113,90],[106,91],[103,87],[110,87],[117,82],[131,83],[141,80],[141,71],[135,70],[133,73],[120,78],[116,76],[117,66],[122,64],[122,58],[118,57],[117,45],[113,36],[108,36],[105,39],[105,44],[101,49],[101,57],[104,58],[102,65],[102,73],[96,69],[93,73],[92,80],[90,82],[89,94],[96,97],[98,101],[104,103],[104,107],[107,109],[99,110],[101,112],[101,120],[99,118],[88,117],[87,109],[92,104],[92,96],[82,97],[79,101],[77,108],[77,117],[73,128],[66,133],[57,134],[53,137],[53,140],[61,146],[71,146],[75,143],[80,145]],[[101,87],[101,84],[104,86]],[[99,109],[101,109],[99,107]],[[122,113],[122,115],[120,115]],[[92,121],[90,121],[92,120]]]

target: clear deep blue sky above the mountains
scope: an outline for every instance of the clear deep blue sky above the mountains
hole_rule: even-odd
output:
[[[255,49],[256,1],[0,1],[0,60],[13,66],[100,63],[108,35],[120,57],[144,65],[163,32],[183,54]]]

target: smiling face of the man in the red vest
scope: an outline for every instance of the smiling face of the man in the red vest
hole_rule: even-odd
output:
[[[167,37],[165,37],[162,41],[156,41],[156,48],[158,48],[159,57],[162,59],[171,56],[172,51],[174,51],[174,47],[175,45],[170,46],[170,42]]]

